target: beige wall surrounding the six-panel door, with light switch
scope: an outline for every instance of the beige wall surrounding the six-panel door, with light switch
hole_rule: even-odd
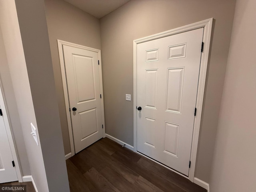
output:
[[[100,19],[106,133],[133,145],[133,40],[214,18],[195,176],[210,181],[235,0],[131,0]],[[132,98],[133,100],[133,98]]]

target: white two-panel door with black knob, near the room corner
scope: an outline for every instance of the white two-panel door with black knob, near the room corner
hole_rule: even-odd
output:
[[[75,152],[103,137],[98,52],[63,45]]]

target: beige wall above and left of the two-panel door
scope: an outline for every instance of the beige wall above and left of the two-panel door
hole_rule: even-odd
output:
[[[65,154],[71,152],[57,39],[100,49],[100,21],[63,0],[45,0]]]

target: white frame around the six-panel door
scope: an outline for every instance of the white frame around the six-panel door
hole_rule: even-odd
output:
[[[136,110],[136,106],[137,106],[137,44],[151,41],[158,38],[163,38],[166,36],[187,32],[190,30],[195,30],[198,28],[204,28],[204,36],[203,36],[204,50],[201,56],[198,92],[197,92],[197,98],[196,98],[197,112],[194,120],[194,130],[193,130],[192,148],[191,148],[191,156],[190,156],[191,165],[190,165],[188,177],[169,168],[170,170],[184,176],[185,178],[188,178],[192,182],[194,182],[194,173],[195,173],[195,166],[196,166],[196,153],[197,153],[197,147],[198,147],[200,122],[201,122],[201,116],[202,116],[202,106],[203,106],[203,100],[204,100],[204,87],[206,82],[206,71],[207,71],[208,55],[209,55],[209,49],[210,49],[212,20],[213,18],[210,18],[207,20],[203,20],[200,22],[196,22],[193,24],[189,24],[186,26],[182,26],[176,29],[168,30],[162,33],[154,34],[154,35],[147,36],[147,37],[140,38],[133,41],[134,152],[137,152],[137,110]]]

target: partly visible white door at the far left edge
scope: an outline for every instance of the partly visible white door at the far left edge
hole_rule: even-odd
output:
[[[0,93],[0,97],[1,96]],[[12,152],[4,125],[4,119],[3,116],[0,116],[0,183],[18,180],[12,161]]]

